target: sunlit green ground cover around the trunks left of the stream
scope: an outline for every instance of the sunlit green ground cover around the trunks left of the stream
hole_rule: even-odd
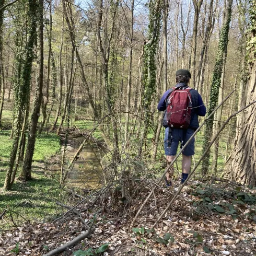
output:
[[[59,136],[46,133],[39,135],[36,140],[32,180],[26,183],[15,181],[11,191],[2,189],[12,145],[9,136],[10,131],[0,132],[0,213],[7,209],[4,220],[0,222],[0,230],[24,222],[22,217],[33,222],[57,214],[60,210],[55,200],[60,200],[62,194],[59,184],[46,178],[42,170],[41,161],[58,152],[61,146]],[[15,224],[11,221],[11,216]]]

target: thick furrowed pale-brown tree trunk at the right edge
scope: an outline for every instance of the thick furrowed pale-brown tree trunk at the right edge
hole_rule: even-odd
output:
[[[248,49],[248,82],[243,97],[243,105],[256,99],[256,2],[249,0],[250,34]],[[230,180],[256,186],[256,104],[252,104],[240,115],[240,129],[237,130],[235,145],[225,164],[225,176]]]

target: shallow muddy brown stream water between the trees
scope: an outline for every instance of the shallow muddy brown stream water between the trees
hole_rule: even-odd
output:
[[[84,137],[73,137],[68,140],[65,158],[71,160],[80,144],[83,142]],[[63,150],[64,146],[62,147]],[[67,178],[67,185],[69,188],[79,187],[98,188],[102,180],[102,168],[99,164],[100,148],[96,144],[86,144],[80,152],[78,159],[72,170],[69,171]],[[102,150],[101,150],[102,153]]]

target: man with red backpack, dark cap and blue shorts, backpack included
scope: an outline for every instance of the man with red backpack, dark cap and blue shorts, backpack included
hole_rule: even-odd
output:
[[[206,108],[201,95],[190,88],[191,74],[187,69],[176,72],[176,86],[167,90],[158,103],[157,109],[165,111],[162,125],[165,129],[165,155],[167,164],[175,158],[179,142],[181,148],[194,131],[199,127],[198,116],[204,117]],[[195,154],[195,138],[182,152],[182,178],[181,184],[189,176],[191,156]],[[171,186],[173,167],[166,173],[166,185]]]

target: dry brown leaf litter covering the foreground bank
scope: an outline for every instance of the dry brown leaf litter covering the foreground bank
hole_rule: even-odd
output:
[[[158,187],[130,229],[153,184],[136,181],[125,204],[116,188],[80,203],[75,207],[79,216],[69,211],[55,222],[2,231],[0,255],[46,254],[85,232],[91,222],[93,234],[59,255],[256,255],[255,190],[193,182],[152,229],[175,193]],[[94,253],[79,254],[85,250]]]

